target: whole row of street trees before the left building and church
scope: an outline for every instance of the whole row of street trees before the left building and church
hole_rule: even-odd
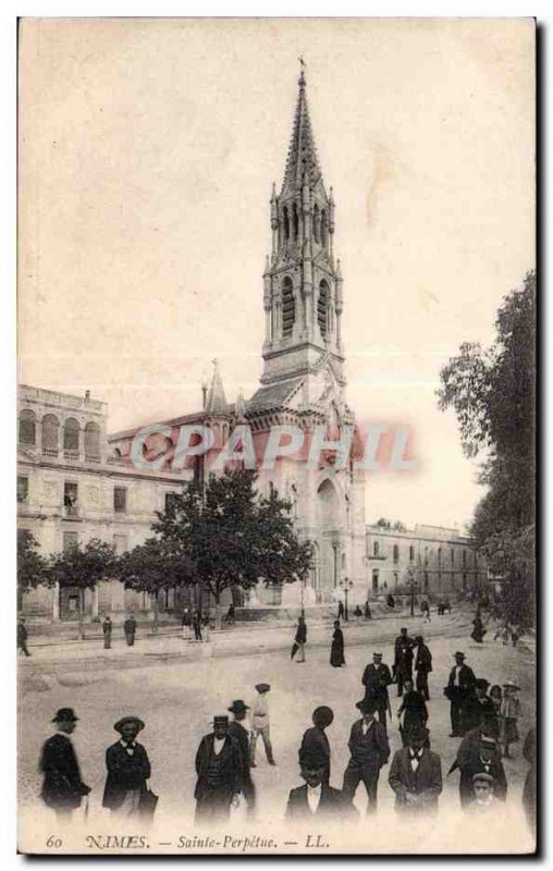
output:
[[[234,469],[211,476],[205,490],[186,487],[158,512],[151,538],[121,555],[91,539],[45,557],[30,532],[24,532],[17,548],[20,590],[56,582],[76,588],[83,636],[85,590],[101,580],[118,578],[126,588],[149,593],[155,625],[163,590],[197,586],[211,594],[220,625],[224,590],[304,580],[312,564],[311,544],[299,541],[294,530],[291,503],[274,492],[259,495],[256,478],[255,471]]]

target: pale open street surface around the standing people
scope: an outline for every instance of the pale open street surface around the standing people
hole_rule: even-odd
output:
[[[135,713],[146,721],[140,735],[152,763],[152,788],[161,797],[158,823],[179,819],[188,823],[194,811],[194,757],[202,734],[210,731],[213,714],[225,713],[232,699],[249,700],[254,685],[260,680],[272,686],[269,697],[271,729],[278,768],[269,768],[259,747],[255,782],[258,793],[258,818],[279,819],[284,811],[287,793],[299,785],[297,749],[305,728],[310,726],[315,707],[330,704],[335,713],[328,731],[332,748],[331,782],[342,785],[347,763],[347,737],[357,711],[355,702],[362,697],[360,678],[370,662],[372,650],[381,650],[384,661],[393,660],[393,641],[401,625],[409,633],[421,631],[428,639],[434,659],[429,702],[429,727],[432,748],[442,757],[445,780],[443,805],[458,807],[458,773],[445,778],[455,757],[457,739],[450,732],[448,703],[442,694],[455,650],[464,650],[467,663],[477,676],[491,683],[511,678],[521,686],[524,717],[519,723],[523,737],[534,712],[533,654],[526,646],[517,649],[493,642],[489,633],[483,645],[469,640],[468,619],[433,617],[430,625],[418,618],[385,619],[346,628],[345,668],[329,664],[330,627],[314,627],[307,647],[307,662],[290,660],[291,630],[260,627],[237,629],[235,634],[195,646],[176,636],[144,641],[127,649],[103,651],[96,643],[65,645],[34,650],[30,660],[22,661],[20,674],[20,780],[22,798],[29,810],[37,801],[39,778],[37,760],[42,740],[51,729],[50,720],[60,707],[75,708],[81,721],[74,743],[82,762],[83,777],[93,787],[90,820],[107,822],[101,810],[105,782],[106,748],[116,738],[113,723],[122,715]],[[328,642],[327,642],[328,639]],[[323,646],[324,645],[324,646]],[[242,655],[233,655],[233,649]],[[114,654],[116,662],[107,661]],[[108,667],[106,667],[108,665]],[[116,665],[116,667],[114,667]],[[121,667],[127,665],[128,667]],[[137,667],[140,666],[140,667]],[[394,714],[390,732],[392,751],[401,746],[397,733],[397,699],[391,687]],[[514,748],[516,758],[505,761],[509,784],[509,801],[519,806],[527,764],[521,760],[521,746]],[[380,808],[392,809],[393,794],[388,785],[388,768],[381,775]],[[357,793],[356,803],[364,812],[365,795]]]

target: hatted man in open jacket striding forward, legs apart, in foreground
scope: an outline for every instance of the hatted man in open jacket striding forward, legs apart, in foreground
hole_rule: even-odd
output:
[[[386,731],[382,723],[374,720],[377,702],[374,699],[358,701],[356,708],[362,713],[352,726],[349,741],[349,762],[344,772],[342,792],[353,800],[359,781],[362,781],[369,798],[368,811],[377,810],[377,789],[380,769],[385,765],[390,756]]]

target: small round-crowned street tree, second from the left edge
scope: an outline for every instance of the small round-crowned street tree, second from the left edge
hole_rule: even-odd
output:
[[[116,574],[118,557],[111,544],[97,538],[84,547],[73,544],[51,557],[50,572],[61,588],[78,590],[78,637],[85,637],[83,627],[85,590],[94,590],[98,581]]]

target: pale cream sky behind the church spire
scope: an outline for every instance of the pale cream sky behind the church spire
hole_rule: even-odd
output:
[[[370,475],[367,520],[463,528],[483,491],[435,390],[534,266],[530,20],[24,22],[20,380],[90,390],[110,431],[198,409],[214,357],[255,392],[300,54],[348,404],[418,462]]]

